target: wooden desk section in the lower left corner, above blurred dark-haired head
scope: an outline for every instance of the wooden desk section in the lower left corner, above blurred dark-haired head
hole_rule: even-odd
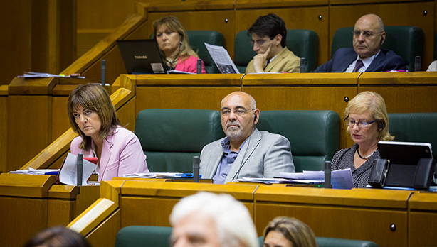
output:
[[[0,174],[0,246],[21,247],[48,226],[66,226],[99,197],[98,186],[54,185],[55,180]]]

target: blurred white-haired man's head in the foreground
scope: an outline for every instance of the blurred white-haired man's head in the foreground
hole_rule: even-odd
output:
[[[174,247],[258,247],[251,214],[228,194],[185,197],[174,206],[170,223]]]

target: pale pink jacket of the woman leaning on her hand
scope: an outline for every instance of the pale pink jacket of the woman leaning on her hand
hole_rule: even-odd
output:
[[[79,148],[82,137],[73,139],[70,146],[70,153],[83,157],[95,157],[94,143],[90,151]],[[147,168],[146,155],[142,151],[137,136],[126,128],[117,127],[112,136],[107,136],[103,142],[102,156],[99,160],[99,181],[112,180],[112,177],[137,172],[149,172]]]

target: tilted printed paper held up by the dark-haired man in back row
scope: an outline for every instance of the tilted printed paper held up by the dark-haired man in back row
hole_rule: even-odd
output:
[[[219,45],[210,45],[209,43],[204,43],[206,49],[211,55],[212,60],[216,64],[217,68],[222,74],[239,74],[237,67],[233,63],[228,51]]]

